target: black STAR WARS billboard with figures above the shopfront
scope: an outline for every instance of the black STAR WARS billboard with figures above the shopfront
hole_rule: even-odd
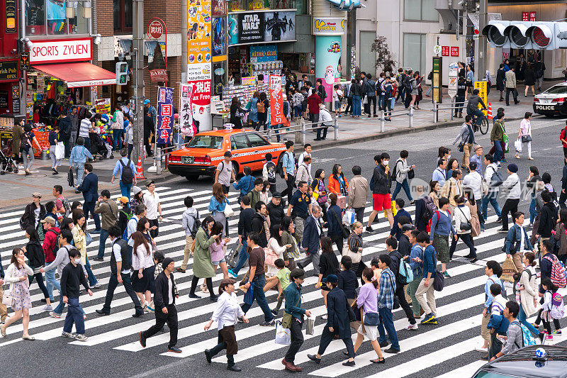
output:
[[[228,14],[228,44],[296,40],[295,11],[257,11]]]

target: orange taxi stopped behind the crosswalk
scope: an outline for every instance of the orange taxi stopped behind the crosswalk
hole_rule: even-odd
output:
[[[198,179],[201,175],[214,177],[215,169],[225,158],[226,151],[232,152],[232,165],[235,174],[238,174],[245,166],[252,171],[261,170],[268,152],[277,165],[286,146],[283,143],[270,143],[254,130],[203,131],[195,135],[185,148],[169,155],[169,172],[187,179]]]

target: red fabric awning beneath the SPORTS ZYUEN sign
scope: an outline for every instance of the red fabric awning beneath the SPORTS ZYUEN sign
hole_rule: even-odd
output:
[[[96,87],[116,84],[116,74],[89,62],[58,63],[53,65],[32,65],[34,70],[57,77],[67,87]]]

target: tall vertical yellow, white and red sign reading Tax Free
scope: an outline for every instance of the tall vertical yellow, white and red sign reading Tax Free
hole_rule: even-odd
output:
[[[218,1],[215,9],[222,12]],[[187,0],[187,82],[193,84],[193,119],[200,130],[211,128],[212,11],[211,0]]]

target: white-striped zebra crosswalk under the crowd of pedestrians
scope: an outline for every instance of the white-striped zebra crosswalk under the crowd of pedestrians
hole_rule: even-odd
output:
[[[164,220],[159,226],[159,236],[156,238],[157,248],[164,252],[166,257],[172,257],[179,266],[184,254],[185,233],[181,229],[181,214],[185,207],[183,200],[185,196],[191,195],[194,207],[201,214],[201,218],[207,215],[208,203],[210,201],[210,190],[195,191],[192,189],[176,189],[172,187],[158,187],[156,189],[162,201],[162,213]],[[113,198],[117,198],[115,195]],[[237,193],[230,193],[228,199],[231,204],[236,203]],[[371,206],[364,212],[364,221],[368,220]],[[229,236],[232,236],[229,248],[234,248],[238,221],[237,206],[235,216],[229,220]],[[411,216],[415,216],[415,208],[408,206],[406,210]],[[11,250],[16,246],[23,246],[27,239],[19,228],[18,219],[21,211],[6,211],[0,213],[0,258],[4,267],[10,262]],[[315,321],[315,332],[313,335],[304,335],[305,343],[296,356],[296,365],[303,367],[303,371],[316,377],[346,377],[348,374],[357,374],[359,377],[417,377],[417,374],[431,377],[467,377],[483,365],[478,360],[481,356],[474,348],[482,343],[480,338],[481,311],[483,308],[484,292],[483,285],[486,277],[484,275],[485,262],[496,260],[502,262],[505,254],[500,250],[503,245],[502,234],[497,233],[499,225],[495,223],[496,216],[489,216],[486,230],[474,239],[477,248],[478,262],[469,263],[463,256],[468,254],[468,248],[459,242],[454,254],[454,260],[448,265],[451,279],[445,281],[443,291],[436,292],[437,317],[439,325],[420,325],[417,330],[406,330],[408,320],[400,309],[393,311],[394,326],[400,339],[401,352],[396,355],[386,354],[385,365],[374,365],[370,362],[374,359],[375,352],[369,343],[363,343],[359,354],[355,358],[354,367],[345,367],[342,350],[344,345],[341,340],[334,340],[327,348],[323,356],[322,364],[315,365],[307,358],[308,353],[316,353],[320,341],[322,328],[325,321],[320,316],[326,313],[325,304],[319,289],[315,289],[317,279],[313,275],[313,267],[306,267],[308,278],[303,284],[303,307],[310,309],[317,316]],[[94,224],[89,222],[87,230],[92,230]],[[369,264],[372,257],[386,250],[384,241],[390,234],[388,221],[381,217],[373,226],[376,233],[363,234],[364,250],[362,262]],[[94,257],[99,248],[99,235],[91,234],[94,241],[87,247],[87,255]],[[84,348],[85,353],[98,353],[105,355],[117,354],[120,360],[133,361],[143,359],[150,355],[160,355],[160,363],[166,365],[171,362],[193,357],[193,368],[200,369],[206,366],[202,355],[203,350],[211,348],[217,343],[217,332],[203,330],[204,323],[208,321],[216,304],[211,303],[206,295],[201,299],[189,299],[190,279],[193,277],[193,259],[189,259],[186,273],[174,273],[176,283],[180,292],[176,300],[179,319],[179,334],[177,346],[181,353],[167,352],[169,333],[162,333],[147,339],[147,347],[142,348],[137,341],[137,333],[145,330],[155,323],[153,314],[146,314],[142,318],[132,318],[133,306],[130,297],[126,295],[123,286],[118,286],[112,302],[111,314],[99,317],[95,310],[101,308],[106,296],[106,284],[110,277],[108,257],[110,254],[109,244],[106,245],[106,260],[103,262],[92,261],[91,267],[94,275],[103,285],[96,289],[93,296],[84,291],[79,301],[86,313],[86,342],[67,340],[60,338],[64,315],[62,318],[51,318],[47,313],[41,311],[43,304],[40,300],[43,294],[37,284],[30,287],[33,308],[30,310],[30,334],[36,338],[36,343],[55,341],[77,345]],[[242,274],[244,270],[242,270]],[[242,274],[240,277],[242,277]],[[213,277],[213,286],[223,279],[223,274],[218,269],[218,274]],[[563,289],[562,289],[563,290]],[[203,294],[203,293],[197,293]],[[243,294],[237,293],[242,302]],[[563,294],[563,293],[562,293]],[[277,292],[266,292],[269,305],[275,305]],[[56,296],[56,299],[58,297]],[[235,362],[239,363],[249,376],[285,376],[281,358],[287,350],[286,345],[274,343],[273,327],[262,327],[259,323],[263,320],[263,313],[259,306],[254,305],[247,313],[250,323],[239,323],[236,330],[239,351],[235,355]],[[418,320],[419,321],[419,320]],[[0,353],[6,352],[9,345],[23,343],[21,339],[21,323],[16,323],[7,329],[7,337],[0,339]],[[352,335],[353,340],[356,333]],[[563,343],[561,337],[556,337],[552,343]],[[201,358],[202,357],[202,358]],[[195,362],[196,361],[196,362]],[[225,364],[225,357],[213,358],[213,367]]]

